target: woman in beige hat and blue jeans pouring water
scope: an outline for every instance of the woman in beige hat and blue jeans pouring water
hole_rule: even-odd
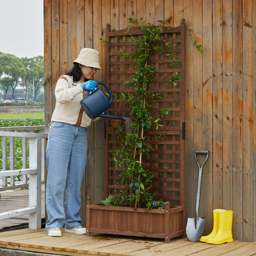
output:
[[[80,101],[84,91],[95,90],[98,85],[92,79],[101,69],[99,53],[83,48],[73,64],[72,70],[61,76],[56,84],[56,105],[46,148],[48,219],[45,228],[49,236],[61,236],[63,224],[65,232],[86,233],[79,215],[80,188],[87,154],[86,127],[92,120],[82,110]]]

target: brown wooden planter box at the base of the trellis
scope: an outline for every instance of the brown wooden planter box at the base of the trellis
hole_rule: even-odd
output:
[[[106,206],[92,204],[88,197],[86,205],[86,236],[103,233],[170,239],[185,234],[184,206],[170,206],[165,210]]]

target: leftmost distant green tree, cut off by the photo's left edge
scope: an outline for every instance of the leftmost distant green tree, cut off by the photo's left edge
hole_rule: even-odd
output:
[[[6,101],[8,89],[12,87],[12,96],[19,80],[25,74],[22,61],[15,55],[0,52],[0,84],[5,91],[4,101]]]

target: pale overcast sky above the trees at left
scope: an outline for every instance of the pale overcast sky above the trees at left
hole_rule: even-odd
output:
[[[43,55],[43,0],[0,0],[0,52]]]

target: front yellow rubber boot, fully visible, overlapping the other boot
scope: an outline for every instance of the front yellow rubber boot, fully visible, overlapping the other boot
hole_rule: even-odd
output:
[[[219,212],[219,228],[215,236],[207,238],[206,243],[221,244],[232,243],[233,211]]]

